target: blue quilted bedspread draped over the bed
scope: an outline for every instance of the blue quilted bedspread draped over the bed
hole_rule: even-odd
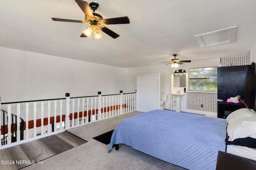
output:
[[[125,144],[189,170],[215,170],[218,150],[225,152],[226,119],[153,110],[124,119],[114,144]]]

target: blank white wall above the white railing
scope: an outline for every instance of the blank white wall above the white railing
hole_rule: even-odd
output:
[[[128,92],[125,75],[125,68],[0,47],[1,103]]]

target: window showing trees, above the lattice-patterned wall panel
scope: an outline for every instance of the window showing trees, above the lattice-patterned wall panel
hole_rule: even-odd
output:
[[[217,66],[189,69],[189,90],[217,91]]]

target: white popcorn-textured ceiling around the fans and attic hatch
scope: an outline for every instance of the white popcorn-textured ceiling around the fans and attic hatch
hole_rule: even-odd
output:
[[[88,1],[90,3],[92,1]],[[0,46],[124,68],[170,61],[247,55],[256,44],[255,0],[98,0],[103,18],[128,16],[130,24],[106,25],[120,37],[82,38],[87,23],[74,0],[2,0]],[[201,48],[194,35],[237,25],[236,42]]]

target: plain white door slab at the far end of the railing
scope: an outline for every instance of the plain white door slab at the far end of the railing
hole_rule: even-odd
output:
[[[160,109],[160,73],[137,76],[136,110]]]

